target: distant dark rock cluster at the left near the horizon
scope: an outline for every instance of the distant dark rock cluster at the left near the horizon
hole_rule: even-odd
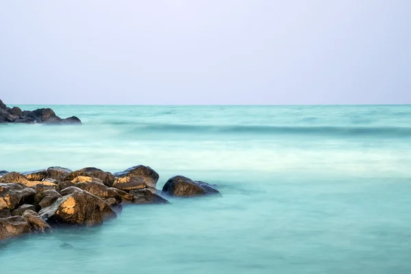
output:
[[[0,100],[0,123],[49,123],[49,124],[81,124],[76,116],[61,119],[51,108],[37,110],[21,110],[18,107],[8,108]]]

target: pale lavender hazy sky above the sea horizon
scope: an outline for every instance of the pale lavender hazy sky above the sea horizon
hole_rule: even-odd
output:
[[[0,0],[10,104],[411,103],[409,0]]]

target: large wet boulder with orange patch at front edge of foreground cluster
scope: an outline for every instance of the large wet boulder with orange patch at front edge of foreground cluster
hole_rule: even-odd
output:
[[[71,187],[73,188],[73,186]],[[67,190],[68,188],[66,188]],[[53,225],[99,225],[116,213],[99,197],[86,191],[74,191],[40,210],[42,219]]]

